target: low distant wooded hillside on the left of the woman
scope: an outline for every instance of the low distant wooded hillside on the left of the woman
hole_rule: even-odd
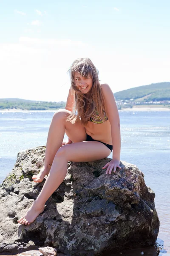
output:
[[[0,110],[57,110],[59,108],[65,108],[65,102],[43,102],[26,99],[0,99]]]

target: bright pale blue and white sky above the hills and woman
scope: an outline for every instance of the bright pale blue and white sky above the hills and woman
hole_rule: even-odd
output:
[[[170,81],[169,14],[169,0],[0,0],[0,98],[65,101],[82,57],[113,93]]]

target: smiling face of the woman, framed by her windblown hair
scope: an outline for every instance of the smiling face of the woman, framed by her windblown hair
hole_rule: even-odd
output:
[[[81,76],[80,73],[74,71],[74,83],[82,93],[88,93],[93,85],[93,79],[90,75]]]

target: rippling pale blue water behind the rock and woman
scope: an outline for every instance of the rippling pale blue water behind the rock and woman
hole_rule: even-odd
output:
[[[46,144],[54,112],[0,112],[0,183],[14,167],[17,153]],[[156,193],[159,244],[170,250],[170,111],[119,111],[121,160],[133,163]],[[65,135],[66,138],[66,135]],[[111,157],[111,155],[110,155]],[[169,249],[169,250],[168,250]]]

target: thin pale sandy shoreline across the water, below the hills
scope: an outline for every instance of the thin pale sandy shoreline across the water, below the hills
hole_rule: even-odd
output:
[[[22,110],[22,109],[4,109],[0,110],[2,112],[55,112],[56,110]],[[119,111],[170,111],[170,108],[161,108],[161,107],[133,107],[133,108],[122,108]]]

